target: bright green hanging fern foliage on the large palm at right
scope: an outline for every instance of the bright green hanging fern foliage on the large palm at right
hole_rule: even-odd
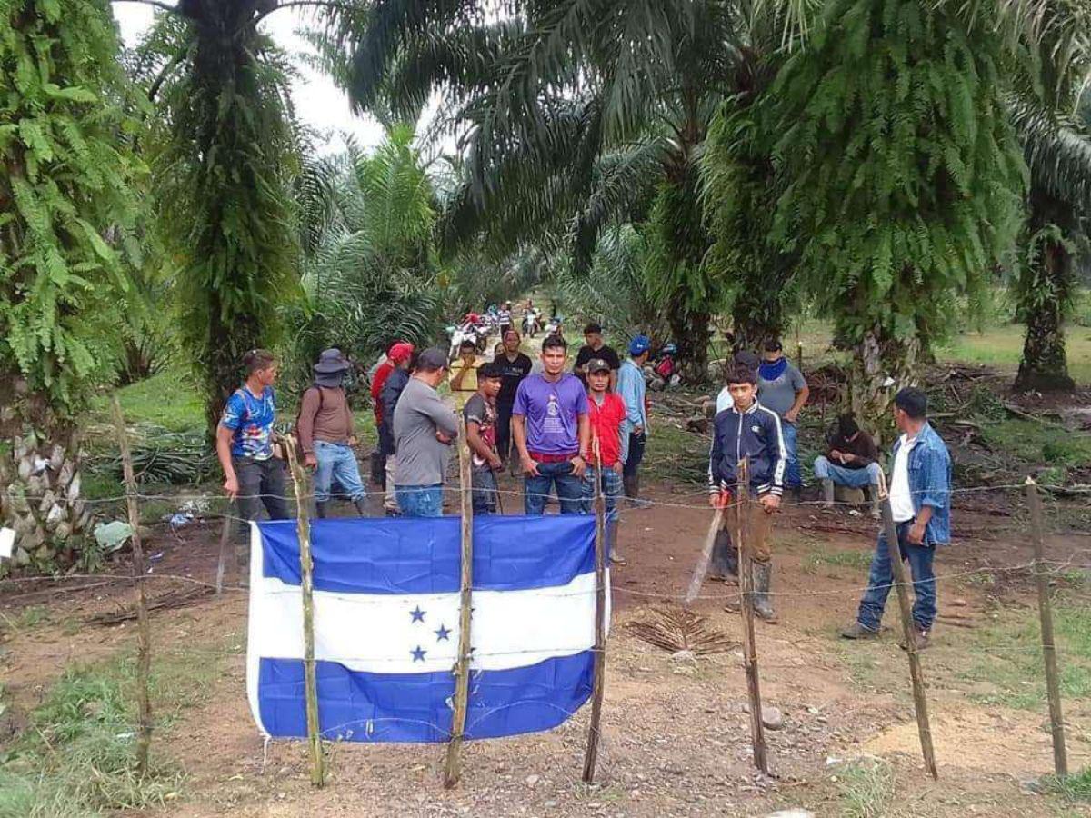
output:
[[[999,55],[947,7],[834,0],[778,75],[772,238],[844,342],[942,337],[951,294],[1012,248],[1026,169]]]

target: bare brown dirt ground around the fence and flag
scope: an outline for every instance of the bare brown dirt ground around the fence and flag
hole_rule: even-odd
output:
[[[975,629],[997,615],[997,596],[1009,608],[1033,602],[1026,568],[1005,570],[1031,558],[1024,521],[1011,515],[1008,498],[960,495],[956,542],[937,557],[942,618],[936,643],[923,658],[939,761],[939,780],[933,782],[920,758],[894,600],[879,642],[862,646],[837,638],[837,628],[852,619],[866,581],[862,555],[874,546],[875,524],[844,510],[824,514],[815,505],[779,515],[774,582],[780,623],[759,624],[757,631],[763,697],[783,715],[782,727],[766,732],[775,773],[767,778],[756,773],[751,760],[741,652],[679,660],[627,627],[684,592],[711,517],[699,506],[704,496],[694,486],[675,493],[654,484],[647,493],[657,505],[626,510],[622,522],[627,562],[613,572],[603,741],[594,786],[579,781],[589,710],[584,708],[547,734],[467,745],[463,781],[453,791],[442,786],[442,746],[358,744],[329,746],[328,783],[313,790],[303,744],[263,746],[250,718],[243,657],[247,597],[232,588],[223,597],[208,596],[152,617],[154,651],[177,651],[193,661],[206,655],[219,663],[199,701],[155,736],[154,751],[187,774],[182,796],[161,811],[184,818],[667,818],[762,816],[790,807],[823,816],[1081,814],[1035,794],[1028,784],[1052,767],[1044,710],[975,703],[980,699],[972,694],[982,683],[962,674]],[[1048,539],[1050,557],[1088,563],[1091,536],[1058,528]],[[156,555],[154,575],[213,581],[217,539],[215,522],[178,532],[157,529],[146,545]],[[996,578],[987,587],[973,581],[983,567]],[[113,570],[123,575],[128,565]],[[172,587],[192,586],[164,579],[152,586],[153,594]],[[45,625],[4,631],[0,643],[0,670],[16,714],[33,708],[65,665],[129,650],[135,638],[131,624],[79,624],[124,602],[129,591],[123,580],[74,578],[61,588],[25,584],[0,601],[0,612],[10,619],[29,606],[50,613]],[[723,610],[733,593],[729,586],[706,582],[695,610],[731,639],[740,639],[739,617]],[[1088,702],[1069,702],[1066,721],[1075,770],[1091,762]],[[852,813],[846,801],[847,765],[873,757],[892,769],[894,795],[882,811]]]

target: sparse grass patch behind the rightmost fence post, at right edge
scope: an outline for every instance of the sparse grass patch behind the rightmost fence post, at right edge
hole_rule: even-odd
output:
[[[1058,598],[1053,609],[1054,637],[1066,699],[1091,699],[1091,606]],[[1038,611],[1005,612],[996,624],[974,631],[968,650],[971,666],[961,676],[990,689],[970,695],[976,703],[1014,710],[1045,707]]]

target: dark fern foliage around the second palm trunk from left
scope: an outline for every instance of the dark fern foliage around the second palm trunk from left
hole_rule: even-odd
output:
[[[181,340],[211,428],[238,386],[243,354],[276,345],[278,306],[300,293],[291,196],[299,158],[289,70],[259,33],[254,3],[195,11],[163,85],[164,125],[149,153]]]

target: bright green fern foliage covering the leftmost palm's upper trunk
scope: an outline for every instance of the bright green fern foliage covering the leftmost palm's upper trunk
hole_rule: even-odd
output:
[[[0,0],[0,380],[61,420],[112,374],[139,262],[117,51],[105,0]]]

